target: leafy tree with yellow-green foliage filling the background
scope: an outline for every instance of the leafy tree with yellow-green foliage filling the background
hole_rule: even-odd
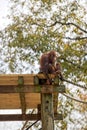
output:
[[[37,73],[40,55],[54,49],[64,78],[74,83],[64,82],[67,93],[87,102],[86,0],[10,2],[11,23],[0,32],[1,73],[31,73],[33,66]],[[56,122],[55,129],[87,129],[87,110],[83,111],[86,107],[87,103],[82,105],[60,95],[58,109],[63,112],[64,120]]]

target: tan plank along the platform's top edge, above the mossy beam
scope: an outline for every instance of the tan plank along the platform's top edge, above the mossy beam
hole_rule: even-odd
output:
[[[18,85],[18,77],[23,76],[24,85],[34,85],[34,76],[38,76],[39,78],[46,78],[43,74],[7,74],[0,75],[0,85]],[[54,75],[50,75],[51,78]]]

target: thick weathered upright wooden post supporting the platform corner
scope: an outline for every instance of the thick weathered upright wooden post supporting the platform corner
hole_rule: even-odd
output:
[[[41,120],[42,130],[54,130],[54,111],[52,93],[41,94]]]

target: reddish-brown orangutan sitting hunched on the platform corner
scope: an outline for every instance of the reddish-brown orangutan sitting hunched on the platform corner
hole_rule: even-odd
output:
[[[61,65],[56,63],[56,52],[54,50],[44,53],[40,58],[40,72],[45,74],[57,74],[61,79]]]

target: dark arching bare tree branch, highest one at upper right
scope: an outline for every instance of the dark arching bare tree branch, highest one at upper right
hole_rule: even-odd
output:
[[[53,23],[52,25],[50,25],[50,26],[48,26],[48,27],[52,27],[52,26],[55,26],[56,24],[61,24],[61,25],[66,25],[66,26],[69,26],[69,25],[73,25],[73,26],[75,26],[76,28],[78,28],[79,30],[81,30],[82,32],[84,32],[84,33],[87,33],[87,31],[86,30],[84,30],[83,28],[81,28],[80,26],[78,26],[78,25],[76,25],[75,23],[63,23],[63,22],[60,22],[60,21],[55,21],[55,23]]]

